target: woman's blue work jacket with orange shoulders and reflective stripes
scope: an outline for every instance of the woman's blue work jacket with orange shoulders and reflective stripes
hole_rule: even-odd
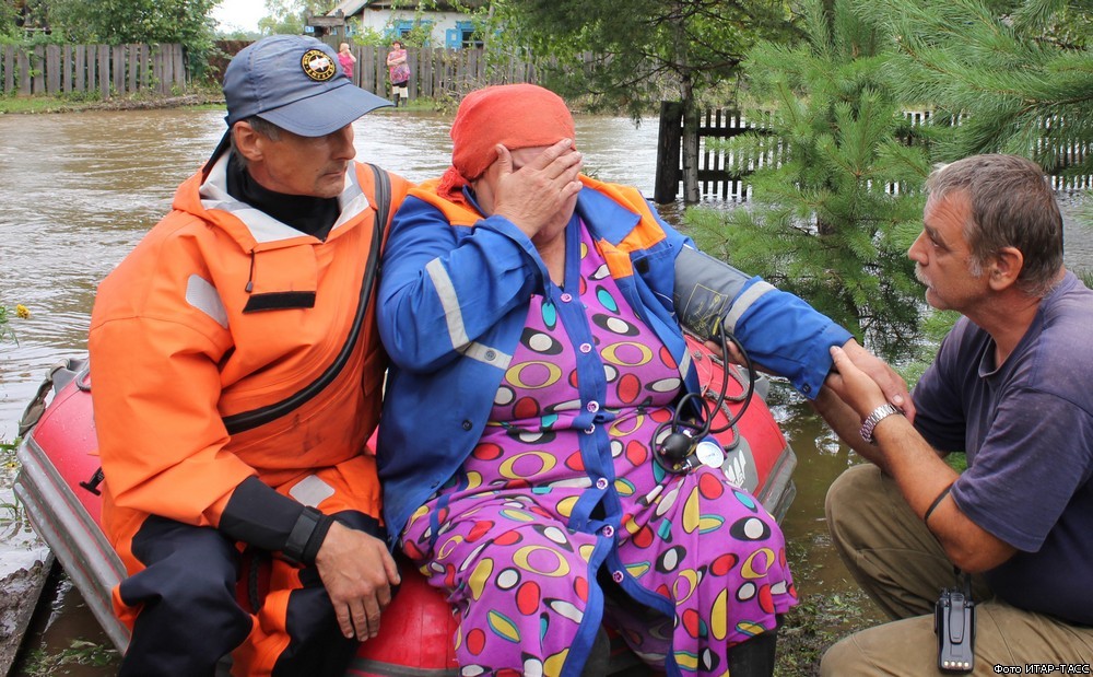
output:
[[[695,392],[697,377],[672,302],[675,259],[694,244],[661,221],[636,189],[581,180],[577,215],[620,291]],[[391,365],[377,456],[392,546],[412,512],[481,437],[529,299],[544,294],[549,280],[534,245],[515,224],[443,200],[434,187],[411,190],[396,214],[379,284],[379,332]],[[748,297],[749,306],[736,308],[737,338],[757,363],[814,396],[831,369],[828,348],[850,334],[792,294],[769,285],[757,297],[749,294],[756,284],[766,285],[760,278],[744,278],[741,285],[739,297]]]

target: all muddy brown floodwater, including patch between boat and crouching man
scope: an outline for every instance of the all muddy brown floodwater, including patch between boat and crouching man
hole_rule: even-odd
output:
[[[357,157],[411,180],[447,166],[450,117],[381,110],[355,124]],[[97,282],[163,215],[177,185],[197,170],[224,130],[223,113],[198,110],[0,115],[0,305],[11,313],[14,338],[0,341],[0,442],[49,366],[86,349]],[[653,194],[657,124],[635,128],[627,118],[579,117],[577,139],[587,171],[602,180]],[[1088,217],[1067,200],[1068,265],[1093,267]],[[662,208],[678,222],[682,209]],[[1088,213],[1088,210],[1086,212]],[[16,304],[30,316],[14,317]],[[781,390],[779,393],[779,390]],[[808,407],[775,386],[775,407],[797,452],[797,499],[784,528],[808,549],[810,571],[798,577],[803,595],[850,590],[831,549],[823,497],[856,459],[835,442]],[[4,458],[8,460],[8,457]],[[0,518],[10,524],[12,469],[0,472]],[[0,532],[0,579],[40,557],[42,546],[17,526]],[[32,647],[56,651],[72,640],[109,641],[79,593],[61,584],[48,600]],[[69,675],[114,669],[71,667]]]

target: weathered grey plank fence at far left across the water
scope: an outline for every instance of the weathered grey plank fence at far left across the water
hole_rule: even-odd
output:
[[[0,95],[180,93],[181,45],[0,46]]]

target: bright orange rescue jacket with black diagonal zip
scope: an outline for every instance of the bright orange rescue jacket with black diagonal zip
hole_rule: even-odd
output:
[[[150,513],[215,527],[248,477],[277,487],[361,455],[378,420],[386,355],[366,281],[379,256],[371,167],[351,166],[341,217],[320,241],[234,200],[225,166],[226,155],[187,179],[98,288],[89,350],[115,544]],[[389,213],[410,187],[391,184]],[[367,312],[348,345],[365,285]],[[337,376],[308,392],[341,351]],[[304,401],[254,427],[292,396]],[[378,515],[378,482],[375,495]]]

